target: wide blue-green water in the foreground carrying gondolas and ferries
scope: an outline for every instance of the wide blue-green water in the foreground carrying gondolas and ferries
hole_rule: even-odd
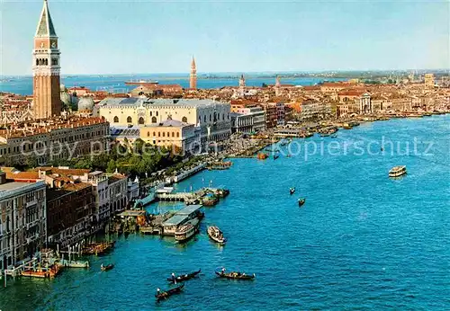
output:
[[[340,130],[338,138],[295,141],[308,142],[308,148],[313,142],[351,143],[347,155],[236,159],[228,171],[199,173],[178,189],[212,181],[231,193],[205,209],[197,241],[178,245],[170,238],[119,237],[111,254],[91,258],[88,271],[11,282],[0,289],[0,309],[448,310],[449,121],[434,116],[366,123]],[[373,142],[371,152],[381,153],[376,144],[383,137],[394,149],[400,142],[402,154],[414,138],[421,153],[432,141],[433,155],[398,155],[389,144],[385,155],[355,155],[356,141]],[[389,179],[397,164],[406,164],[408,174]],[[293,186],[297,191],[290,196]],[[302,209],[300,196],[306,197]],[[210,224],[223,230],[227,245],[211,243],[205,233]],[[116,267],[100,272],[101,262]],[[213,274],[220,266],[255,272],[257,279],[220,280]],[[172,271],[198,268],[201,277],[186,282],[182,294],[155,303],[155,289],[166,288]]]

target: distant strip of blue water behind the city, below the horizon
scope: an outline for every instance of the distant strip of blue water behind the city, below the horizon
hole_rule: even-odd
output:
[[[185,78],[180,78],[185,76]],[[125,85],[125,81],[136,80],[152,80],[158,81],[160,84],[180,84],[184,88],[189,87],[188,75],[139,75],[139,76],[63,76],[61,84],[67,87],[85,86],[92,91],[108,91],[111,93],[128,93],[136,87],[136,85]],[[327,78],[327,81],[340,81],[338,78]],[[291,79],[282,79],[283,84],[294,85],[313,85],[324,81],[322,78],[299,77]],[[275,78],[249,77],[246,84],[248,86],[261,86],[263,83],[275,84]],[[238,86],[238,79],[226,77],[217,77],[214,79],[205,79],[198,77],[197,86],[203,89],[220,88],[223,86]],[[10,92],[28,95],[32,93],[32,77],[20,76],[11,77],[8,81],[0,83],[0,92]]]

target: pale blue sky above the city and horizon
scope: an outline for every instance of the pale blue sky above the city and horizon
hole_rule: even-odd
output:
[[[31,75],[42,1],[1,1],[1,67]],[[448,1],[49,0],[61,73],[450,67]]]

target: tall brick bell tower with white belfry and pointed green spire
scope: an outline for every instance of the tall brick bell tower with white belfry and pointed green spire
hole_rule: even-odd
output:
[[[35,119],[47,119],[61,114],[59,54],[58,37],[51,22],[47,0],[44,0],[32,50]]]

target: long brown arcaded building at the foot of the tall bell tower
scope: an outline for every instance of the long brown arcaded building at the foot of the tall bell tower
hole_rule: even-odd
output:
[[[64,118],[0,129],[0,164],[37,166],[107,150],[109,124],[100,118]]]

